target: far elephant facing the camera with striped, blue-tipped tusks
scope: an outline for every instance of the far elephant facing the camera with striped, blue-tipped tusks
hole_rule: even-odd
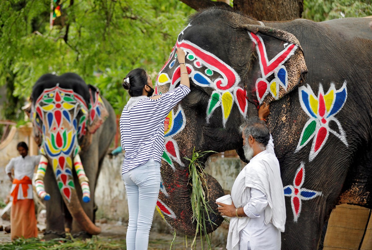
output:
[[[74,73],[41,76],[31,99],[35,141],[42,154],[35,185],[47,206],[44,238],[61,237],[65,227],[81,237],[99,234],[94,190],[116,132],[112,106]]]

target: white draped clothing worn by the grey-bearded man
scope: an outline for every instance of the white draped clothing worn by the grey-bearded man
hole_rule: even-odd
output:
[[[243,207],[247,217],[231,218],[227,249],[279,250],[286,215],[279,162],[271,136],[266,150],[254,156],[239,173],[231,198],[235,207]]]

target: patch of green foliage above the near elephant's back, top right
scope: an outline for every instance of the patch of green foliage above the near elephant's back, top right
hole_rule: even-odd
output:
[[[316,22],[372,15],[372,0],[304,0],[303,18]]]

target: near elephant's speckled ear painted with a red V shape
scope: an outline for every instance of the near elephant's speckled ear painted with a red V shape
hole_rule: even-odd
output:
[[[291,92],[307,73],[304,53],[297,38],[286,31],[259,25],[243,25],[254,49],[253,79],[248,99],[262,104]],[[252,63],[252,62],[251,62]],[[249,91],[248,91],[249,92]],[[249,96],[250,95],[250,96]]]

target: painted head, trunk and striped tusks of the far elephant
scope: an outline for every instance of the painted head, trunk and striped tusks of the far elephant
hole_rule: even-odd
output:
[[[73,218],[89,234],[100,233],[100,228],[85,214],[78,200],[73,178],[75,169],[82,199],[89,202],[89,180],[79,152],[89,146],[91,135],[108,115],[99,90],[85,84],[77,74],[66,73],[59,77],[46,74],[35,83],[31,98],[35,140],[42,154],[35,176],[38,195],[44,200],[50,199],[44,187],[45,171],[49,165]]]

